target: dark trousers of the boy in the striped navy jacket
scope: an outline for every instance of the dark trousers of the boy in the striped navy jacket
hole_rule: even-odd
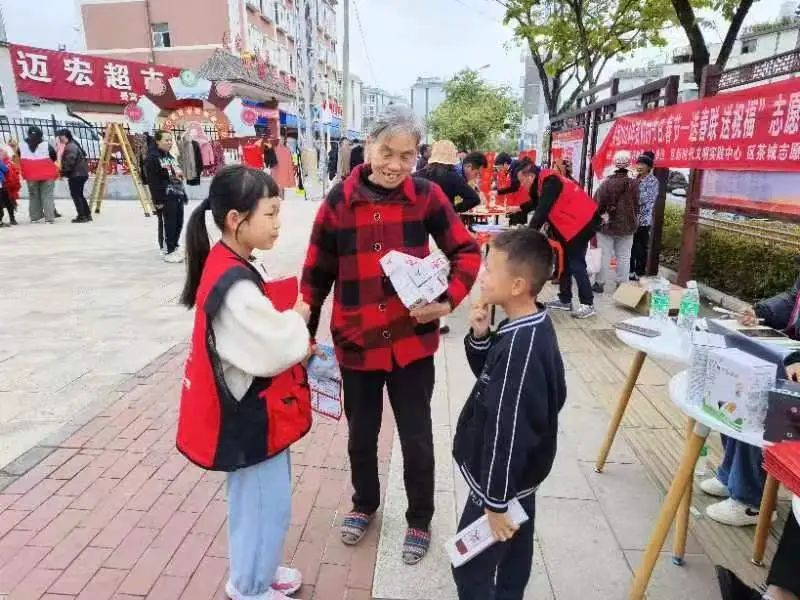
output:
[[[533,524],[536,495],[520,500],[529,521],[508,542],[496,542],[468,563],[453,569],[459,600],[522,600],[533,566]],[[474,494],[458,523],[461,531],[484,514],[483,505]]]

